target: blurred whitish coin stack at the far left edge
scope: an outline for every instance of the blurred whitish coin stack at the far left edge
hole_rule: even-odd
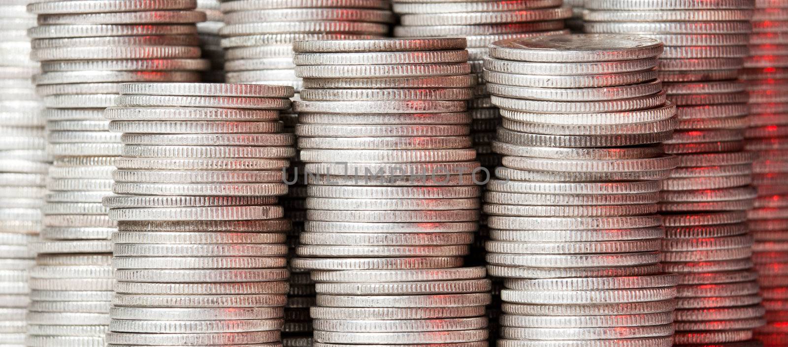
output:
[[[0,2],[0,344],[24,345],[28,270],[38,238],[46,169],[43,105],[31,82],[39,65],[30,60],[27,29],[35,15],[27,1]]]

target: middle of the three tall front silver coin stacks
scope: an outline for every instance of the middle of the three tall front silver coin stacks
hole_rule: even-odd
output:
[[[485,345],[465,39],[299,41],[314,345]]]

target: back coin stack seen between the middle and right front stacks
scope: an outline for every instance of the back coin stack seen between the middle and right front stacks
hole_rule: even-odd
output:
[[[471,72],[481,82],[482,58],[487,55],[490,43],[515,37],[568,33],[563,20],[571,16],[571,9],[561,5],[562,0],[394,0],[392,9],[400,15],[400,25],[394,28],[394,36],[465,37]],[[492,152],[490,142],[495,138],[500,115],[490,103],[484,83],[477,84],[468,110],[474,119],[470,129],[478,161],[485,168],[495,168],[500,164],[500,156]]]

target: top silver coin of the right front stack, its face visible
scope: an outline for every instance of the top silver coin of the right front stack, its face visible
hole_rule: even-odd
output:
[[[548,35],[507,39],[490,46],[490,57],[510,61],[622,61],[656,57],[661,42],[635,35]]]

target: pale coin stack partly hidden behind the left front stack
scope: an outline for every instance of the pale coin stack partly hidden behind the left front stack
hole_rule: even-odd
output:
[[[30,285],[29,346],[104,345],[113,271],[110,234],[116,223],[102,197],[110,194],[120,135],[108,131],[103,109],[120,83],[199,81],[194,1],[33,2],[31,57],[47,109],[54,164],[43,206],[42,241]]]

